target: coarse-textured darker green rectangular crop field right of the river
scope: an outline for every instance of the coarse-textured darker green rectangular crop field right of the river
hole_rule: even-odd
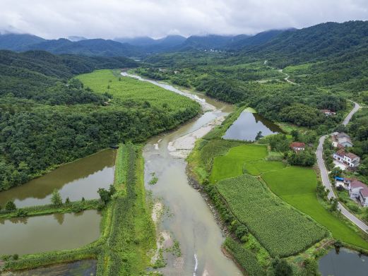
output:
[[[255,176],[244,174],[224,179],[216,187],[239,221],[247,225],[271,256],[302,252],[328,234],[273,195]]]

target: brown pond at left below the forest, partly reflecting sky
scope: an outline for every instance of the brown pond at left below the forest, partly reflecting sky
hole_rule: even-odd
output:
[[[44,176],[26,184],[0,192],[0,206],[14,200],[16,206],[49,204],[54,189],[61,198],[71,201],[99,198],[98,188],[107,188],[114,182],[115,150],[102,150],[95,155],[64,164]]]

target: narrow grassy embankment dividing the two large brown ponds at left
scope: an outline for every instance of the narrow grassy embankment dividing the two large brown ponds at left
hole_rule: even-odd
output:
[[[68,204],[63,204],[61,206],[40,205],[31,206],[25,208],[18,208],[13,211],[0,211],[0,218],[11,219],[13,217],[34,217],[37,215],[49,215],[54,213],[67,213],[67,212],[81,212],[83,210],[98,209],[100,205],[100,200],[85,200],[85,201],[73,201]]]

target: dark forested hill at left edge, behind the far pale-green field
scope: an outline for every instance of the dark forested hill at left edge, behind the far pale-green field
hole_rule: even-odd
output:
[[[65,83],[72,76],[92,72],[95,69],[136,66],[136,61],[124,57],[56,56],[44,51],[16,53],[2,50],[0,95],[11,94],[15,97],[49,103],[78,103],[80,101],[76,98],[81,95],[69,91],[68,98],[61,97],[63,94],[61,90],[66,92],[69,88],[57,83]],[[88,91],[84,91],[83,97],[87,97],[87,94]],[[70,97],[73,97],[74,101]]]

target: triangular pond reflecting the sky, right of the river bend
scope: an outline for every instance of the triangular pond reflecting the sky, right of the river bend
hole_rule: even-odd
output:
[[[272,121],[263,118],[251,109],[246,109],[238,119],[227,129],[225,139],[254,141],[257,133],[261,131],[262,136],[283,133],[283,130]]]

